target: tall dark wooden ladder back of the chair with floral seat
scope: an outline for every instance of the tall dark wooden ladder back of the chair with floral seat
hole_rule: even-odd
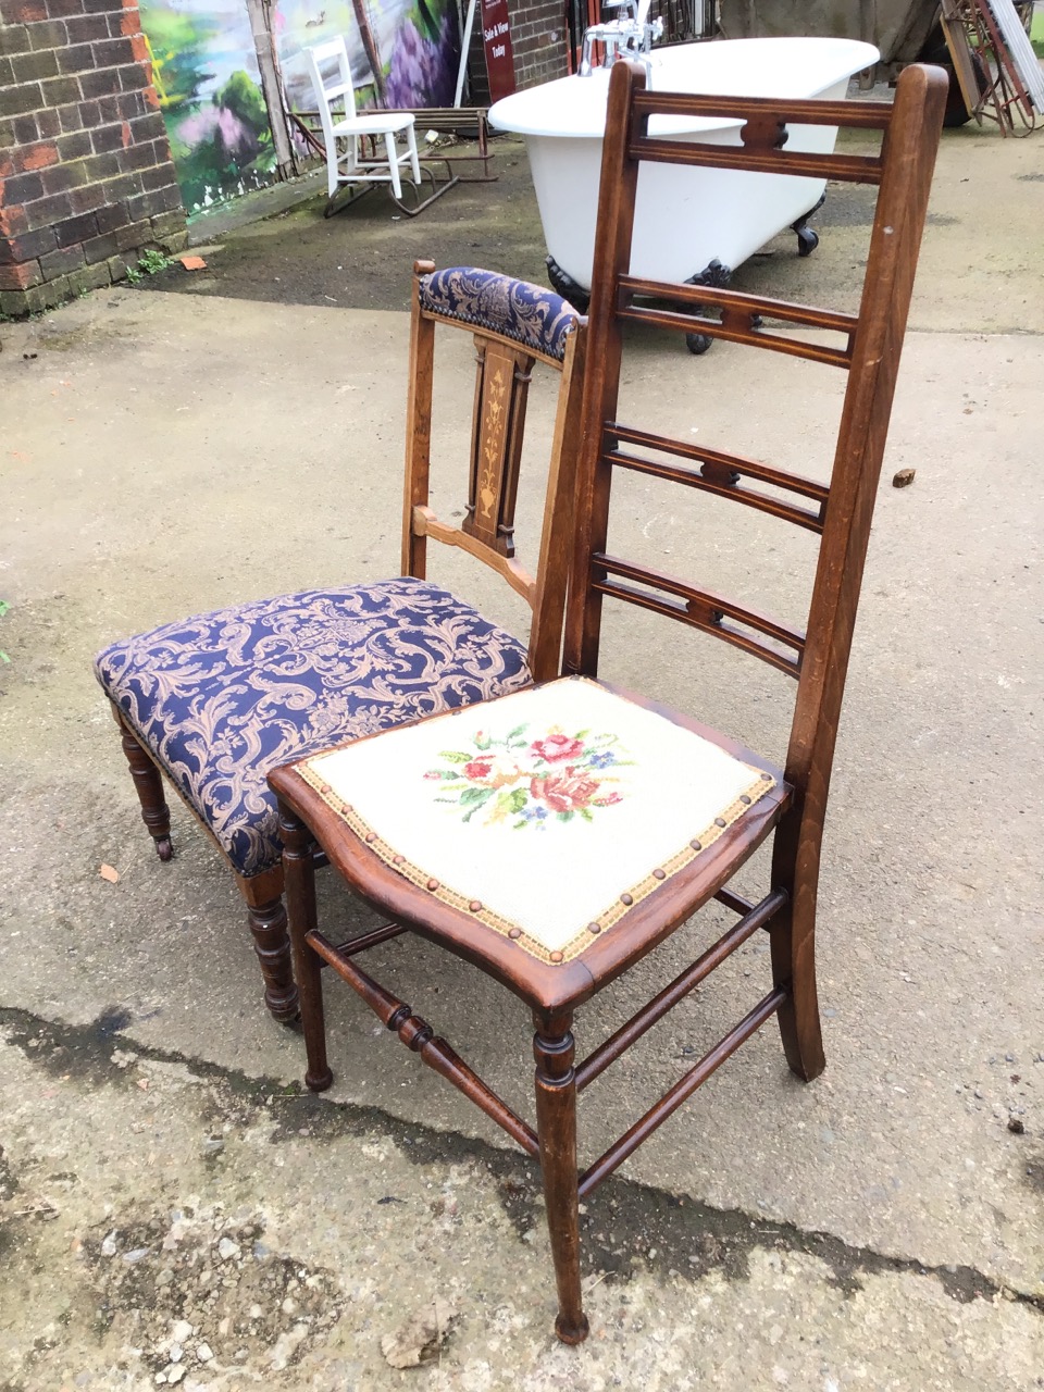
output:
[[[601,170],[594,264],[603,267],[592,294],[589,322],[597,345],[583,397],[578,532],[567,608],[568,672],[596,675],[601,606],[606,596],[679,619],[746,650],[798,678],[786,754],[795,789],[777,837],[775,864],[806,862],[813,887],[838,718],[852,644],[856,606],[870,535],[870,518],[884,455],[888,419],[906,327],[917,249],[927,210],[947,84],[940,70],[908,68],[894,104],[870,102],[775,102],[688,96],[644,90],[644,74],[617,64]],[[692,131],[650,138],[656,116],[735,117],[741,145],[704,145]],[[876,156],[805,155],[786,150],[788,124],[880,129]],[[629,274],[639,164],[644,160],[709,164],[770,174],[825,177],[877,184],[877,209],[857,315],[835,313],[736,291],[677,285]],[[638,305],[636,296],[643,299]],[[674,308],[661,308],[668,302]],[[690,312],[688,306],[693,306]],[[721,310],[721,320],[696,312]],[[763,320],[844,334],[844,347],[788,338]],[[618,419],[622,326],[640,322],[711,334],[839,366],[848,372],[830,486],[721,450],[657,434]],[[646,458],[674,455],[686,464]],[[638,470],[770,512],[820,535],[807,633],[735,604],[707,586],[689,585],[607,554],[612,472]],[[812,507],[767,494],[746,480],[791,491]],[[793,876],[777,884],[786,888]]]

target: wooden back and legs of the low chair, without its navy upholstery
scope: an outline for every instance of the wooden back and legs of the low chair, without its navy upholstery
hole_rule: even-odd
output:
[[[427,540],[455,546],[489,565],[522,599],[533,621],[529,632],[528,664],[535,681],[558,671],[565,608],[567,574],[572,544],[574,459],[579,440],[580,387],[586,352],[586,320],[578,316],[568,335],[564,359],[473,323],[430,312],[420,302],[422,277],[434,263],[413,264],[409,335],[409,394],[406,401],[405,494],[402,507],[402,575],[426,579]],[[462,528],[440,521],[429,507],[432,461],[432,405],[434,394],[436,327],[470,333],[476,351],[475,412],[470,438],[470,468],[466,516]],[[514,558],[515,498],[522,458],[526,405],[532,369],[543,362],[561,374],[547,477],[540,551],[536,575]],[[494,400],[496,398],[496,400]],[[509,430],[501,429],[504,419]],[[482,465],[482,469],[480,469]],[[482,493],[493,497],[494,525],[490,528]],[[138,792],[142,820],[153,838],[160,860],[170,860],[170,807],[161,774],[150,752],[135,735],[117,704],[113,715],[122,739],[131,777]],[[189,810],[212,837],[207,824]],[[214,845],[217,842],[214,841]],[[221,855],[224,851],[219,846]],[[324,863],[320,856],[317,863]],[[295,1020],[299,1012],[294,981],[287,913],[283,903],[284,873],[277,864],[258,876],[232,869],[242,895],[255,952],[264,980],[264,1004],[277,1020]]]

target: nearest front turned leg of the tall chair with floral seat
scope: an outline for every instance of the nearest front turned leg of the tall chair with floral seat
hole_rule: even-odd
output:
[[[551,1235],[562,1343],[583,1343],[589,1334],[580,1297],[580,1215],[576,1192],[576,1075],[571,1016],[535,1019],[536,1129],[544,1175],[547,1226]]]

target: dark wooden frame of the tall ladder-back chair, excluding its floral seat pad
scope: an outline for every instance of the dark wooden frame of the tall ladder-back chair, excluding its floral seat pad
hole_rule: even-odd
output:
[[[814,973],[816,896],[820,845],[831,764],[848,667],[856,604],[866,558],[888,418],[906,324],[913,274],[927,209],[928,187],[947,100],[938,68],[910,67],[899,78],[895,104],[864,102],[775,102],[646,92],[640,68],[619,63],[610,82],[594,264],[603,267],[590,305],[589,366],[576,494],[576,550],[567,601],[567,674],[597,675],[601,608],[606,596],[638,604],[721,638],[798,679],[798,696],[785,771],[685,715],[654,707],[696,731],[763,775],[777,780],[770,796],[728,825],[714,855],[697,856],[688,873],[665,877],[661,888],[629,906],[611,933],[580,956],[558,966],[525,958],[504,937],[483,931],[473,917],[447,906],[400,876],[347,830],[320,793],[294,766],[276,770],[285,838],[291,930],[302,991],[308,1048],[306,1083],[330,1086],[320,966],[333,970],[374,1009],[400,1040],[493,1118],[543,1169],[547,1219],[558,1286],[558,1336],[578,1343],[587,1334],[579,1270],[579,1201],[642,1144],[745,1040],[777,1016],[789,1068],[805,1080],[824,1068]],[[654,114],[735,116],[741,145],[721,146],[688,138],[650,138]],[[880,155],[818,155],[786,150],[786,124],[825,124],[883,131]],[[728,164],[736,168],[839,178],[880,185],[859,315],[839,315],[760,295],[693,288],[692,310],[657,309],[647,296],[668,287],[628,274],[639,164]],[[643,303],[635,303],[640,296]],[[678,287],[670,296],[683,299]],[[721,322],[699,306],[721,310]],[[844,347],[823,347],[770,327],[798,324],[834,330]],[[622,324],[640,322],[689,333],[697,330],[839,366],[848,391],[830,487],[722,451],[702,450],[617,419]],[[635,454],[639,447],[668,452],[660,464]],[[611,480],[617,468],[640,469],[688,487],[771,512],[820,536],[807,633],[793,631],[727,597],[672,576],[611,557],[606,551]],[[788,490],[793,501],[757,484]],[[636,697],[632,697],[636,699]],[[374,736],[383,738],[380,735]],[[750,799],[746,799],[748,802]],[[351,809],[347,809],[351,812]],[[725,821],[718,823],[725,827]],[[774,832],[768,891],[753,902],[728,887],[729,878]],[[374,839],[373,837],[367,839]],[[340,947],[316,922],[312,880],[319,842],[348,884],[394,916],[393,923]],[[699,845],[695,846],[700,849]],[[438,888],[437,881],[427,885]],[[690,915],[717,899],[736,915],[734,926],[685,972],[639,1009],[586,1059],[575,1062],[572,1019],[578,1005],[647,955]],[[482,908],[482,905],[472,906]],[[625,927],[626,926],[626,927]],[[597,924],[594,926],[597,930]],[[582,1172],[576,1164],[576,1096],[663,1019],[742,942],[760,928],[771,940],[771,990],[683,1075],[624,1136]],[[519,995],[533,1011],[536,1036],[536,1128],[515,1115],[430,1026],[359,969],[363,949],[404,931],[416,931],[473,962]],[[562,954],[558,954],[561,959]],[[554,956],[551,958],[554,962]]]

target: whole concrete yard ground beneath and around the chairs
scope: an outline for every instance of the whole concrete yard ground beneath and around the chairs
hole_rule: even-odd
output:
[[[535,1166],[347,991],[334,1090],[302,1096],[230,877],[181,807],[156,860],[90,674],[164,619],[395,572],[409,263],[540,273],[521,148],[416,223],[372,198],[205,224],[207,271],[150,287],[180,294],[0,326],[3,1392],[1044,1386],[1040,159],[1040,136],[974,128],[940,157],[825,844],[827,1072],[796,1083],[767,1027],[599,1190],[579,1350],[551,1335]],[[862,193],[834,198],[816,256],[780,239],[739,284],[851,301],[866,224]],[[470,369],[447,348],[452,445]],[[752,373],[739,347],[642,338],[625,393],[664,429],[823,476],[838,377],[764,356]],[[533,415],[537,459],[546,401]],[[436,505],[459,489],[440,470]],[[540,491],[535,465],[522,540]],[[638,477],[619,504],[628,554],[771,589],[800,621],[807,536],[731,512],[721,530],[713,500]],[[438,574],[522,625],[462,558]],[[718,647],[614,614],[604,675],[778,754],[791,683]],[[372,922],[330,874],[320,892],[324,922]],[[709,917],[582,1012],[582,1051]],[[408,940],[372,960],[528,1109],[514,998]],[[585,1094],[585,1154],[763,994],[764,944],[718,977]],[[411,1321],[429,1328],[404,1356],[433,1357],[400,1371],[381,1339]]]

